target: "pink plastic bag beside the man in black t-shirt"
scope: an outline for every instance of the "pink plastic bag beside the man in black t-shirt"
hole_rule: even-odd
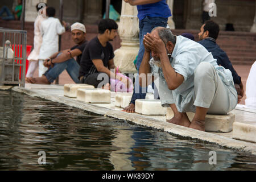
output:
[[[122,81],[110,78],[111,91],[112,92],[133,92],[133,81],[131,80],[131,78],[125,75],[122,75],[122,73],[117,73],[117,75],[129,80],[130,88],[126,88],[126,85]]]

